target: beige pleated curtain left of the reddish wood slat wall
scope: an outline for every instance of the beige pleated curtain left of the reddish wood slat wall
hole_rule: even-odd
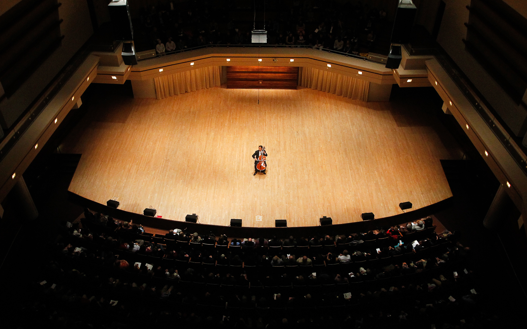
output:
[[[158,99],[220,86],[220,67],[208,66],[154,78]]]

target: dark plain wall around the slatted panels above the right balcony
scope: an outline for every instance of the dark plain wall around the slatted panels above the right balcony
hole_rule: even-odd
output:
[[[516,136],[523,137],[527,129],[527,108],[515,103],[465,49],[462,39],[466,39],[467,27],[464,23],[469,22],[470,13],[466,6],[471,4],[471,0],[444,0],[444,2],[446,7],[437,42],[494,107],[511,131]],[[524,0],[505,0],[505,3],[526,17],[527,4]],[[496,53],[499,54],[499,49],[496,49]],[[525,102],[525,96],[523,98]],[[523,139],[523,145],[527,146],[527,138]]]

